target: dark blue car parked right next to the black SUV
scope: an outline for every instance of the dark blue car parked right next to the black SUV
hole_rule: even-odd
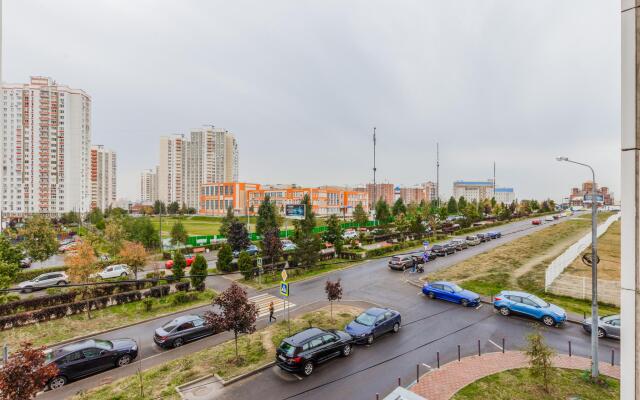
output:
[[[375,338],[387,332],[397,333],[401,319],[400,313],[395,310],[373,307],[349,322],[344,330],[356,343],[371,344]]]

